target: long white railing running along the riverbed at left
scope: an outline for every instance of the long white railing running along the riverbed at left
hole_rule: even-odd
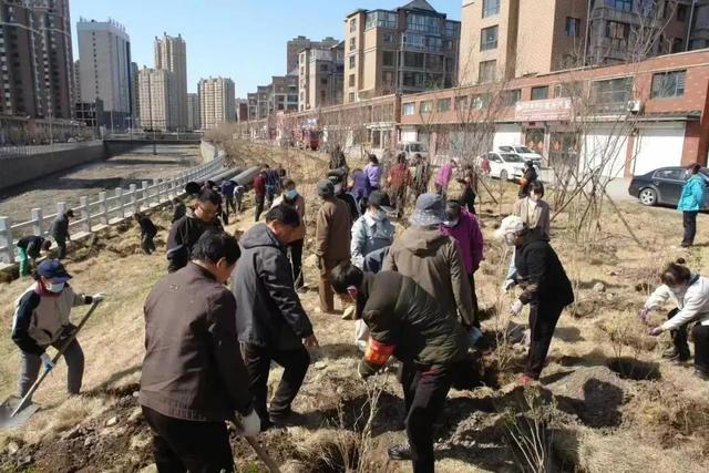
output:
[[[138,188],[131,184],[127,189],[101,192],[95,200],[88,196],[79,198],[79,206],[72,207],[74,219],[70,223],[70,234],[74,237],[91,234],[107,225],[131,218],[140,210],[146,210],[184,195],[185,185],[191,181],[203,181],[224,171],[225,155],[218,153],[213,161],[177,173],[171,178],[143,181]],[[47,235],[58,215],[66,212],[66,204],[56,203],[56,213],[43,215],[41,208],[31,210],[31,218],[12,223],[10,217],[0,216],[0,263],[14,263],[14,244],[27,235]]]

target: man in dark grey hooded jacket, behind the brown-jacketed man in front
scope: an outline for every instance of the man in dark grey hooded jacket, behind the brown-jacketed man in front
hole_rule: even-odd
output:
[[[286,257],[286,245],[297,238],[299,225],[295,208],[271,208],[266,224],[256,224],[242,236],[243,256],[232,275],[232,291],[238,300],[236,327],[264,430],[290,420],[290,405],[310,364],[306,347],[318,346]],[[268,410],[271,360],[285,371]]]

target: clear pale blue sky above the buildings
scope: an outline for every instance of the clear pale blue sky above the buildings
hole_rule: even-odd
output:
[[[286,41],[342,39],[345,16],[363,9],[393,9],[408,0],[70,0],[74,54],[76,21],[112,18],[131,35],[133,61],[154,65],[153,40],[182,33],[187,43],[187,89],[209,75],[232,78],[236,95],[246,96],[271,75],[286,73]],[[460,20],[461,0],[429,0]]]

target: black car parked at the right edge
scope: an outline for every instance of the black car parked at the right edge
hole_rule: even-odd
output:
[[[709,186],[709,171],[701,168],[699,175]],[[675,207],[682,194],[685,181],[687,181],[685,167],[660,167],[641,176],[634,176],[628,193],[637,197],[643,205],[670,205]],[[709,209],[709,193],[703,208]]]

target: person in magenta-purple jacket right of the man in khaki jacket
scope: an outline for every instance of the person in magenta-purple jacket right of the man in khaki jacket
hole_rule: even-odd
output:
[[[475,323],[480,328],[477,318],[477,296],[475,295],[475,271],[483,260],[483,234],[477,218],[463,208],[460,198],[451,198],[445,206],[445,220],[441,224],[441,232],[454,238],[463,257],[463,266],[470,278],[473,291],[473,311]]]

